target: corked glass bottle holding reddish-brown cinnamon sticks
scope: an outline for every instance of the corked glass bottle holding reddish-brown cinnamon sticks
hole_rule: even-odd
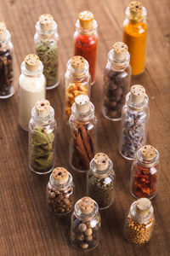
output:
[[[75,98],[70,117],[69,160],[71,167],[78,172],[87,172],[97,148],[97,119],[94,104],[88,96]]]

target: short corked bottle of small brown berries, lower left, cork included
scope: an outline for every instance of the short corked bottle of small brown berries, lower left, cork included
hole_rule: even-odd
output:
[[[74,205],[74,183],[70,172],[63,167],[54,168],[47,185],[48,211],[65,215]]]

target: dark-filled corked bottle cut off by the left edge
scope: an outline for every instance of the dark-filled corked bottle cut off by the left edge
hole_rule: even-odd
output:
[[[10,33],[0,22],[0,99],[14,95],[14,47]]]

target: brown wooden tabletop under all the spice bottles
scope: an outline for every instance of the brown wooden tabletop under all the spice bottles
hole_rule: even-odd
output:
[[[56,166],[65,166],[77,187],[77,199],[85,195],[85,176],[72,172],[68,164],[68,128],[62,121],[63,77],[65,64],[73,55],[73,32],[77,15],[83,9],[94,12],[99,23],[99,55],[92,101],[99,122],[99,151],[109,154],[116,172],[116,201],[103,212],[99,247],[87,255],[101,256],[167,256],[170,238],[169,207],[169,55],[170,32],[168,1],[143,0],[148,10],[149,33],[145,72],[132,84],[143,84],[150,97],[150,123],[147,143],[161,154],[161,176],[158,193],[152,200],[156,228],[150,242],[134,247],[122,236],[125,214],[134,201],[129,192],[131,162],[117,152],[120,123],[101,114],[103,70],[111,45],[122,40],[122,21],[129,1],[125,0],[3,0],[1,20],[12,33],[15,52],[15,86],[18,87],[20,63],[34,52],[33,36],[38,16],[54,15],[59,25],[59,88],[48,91],[47,98],[58,122]],[[46,208],[45,189],[48,175],[34,175],[27,165],[27,133],[18,124],[18,92],[0,101],[0,255],[82,255],[71,247],[70,217],[55,218]]]

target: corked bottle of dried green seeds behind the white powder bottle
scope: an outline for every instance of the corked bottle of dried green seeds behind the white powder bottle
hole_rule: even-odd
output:
[[[34,36],[37,55],[43,64],[47,90],[59,85],[59,34],[52,15],[41,15]]]

